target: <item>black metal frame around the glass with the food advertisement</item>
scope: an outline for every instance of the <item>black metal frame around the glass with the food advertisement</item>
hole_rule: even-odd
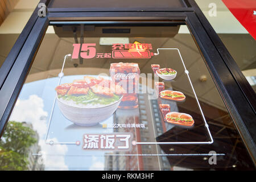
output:
[[[40,2],[48,5],[51,1],[41,0]],[[176,11],[77,12],[76,9],[71,9],[69,12],[63,12],[63,10],[54,9],[49,10],[46,17],[43,18],[38,17],[39,9],[36,8],[7,56],[5,63],[0,68],[0,137],[50,22],[94,20],[101,23],[106,21],[119,23],[122,21],[122,23],[129,24],[134,23],[134,21],[146,21],[157,24],[162,23],[163,20],[165,20],[164,23],[183,21],[191,31],[217,89],[255,162],[256,94],[196,3],[193,0],[184,0],[184,2],[189,5],[187,9],[183,8]],[[151,20],[154,20],[154,23]]]

